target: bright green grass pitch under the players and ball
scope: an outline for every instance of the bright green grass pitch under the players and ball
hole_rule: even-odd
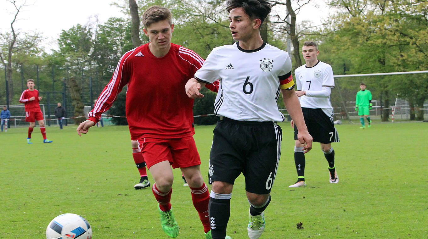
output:
[[[283,130],[282,156],[261,239],[398,239],[428,235],[428,123],[336,125],[334,143],[339,183],[328,181],[327,161],[314,144],[306,154],[305,188],[289,189],[294,167],[293,130]],[[27,128],[0,133],[0,238],[42,239],[48,223],[72,212],[85,217],[94,239],[163,239],[151,189],[134,190],[139,180],[128,127],[92,127],[77,136],[75,126],[48,127],[43,144],[37,127],[33,144]],[[207,179],[214,126],[197,126],[196,145]],[[203,239],[190,189],[174,170],[172,207],[181,239]],[[153,183],[152,177],[149,179]],[[242,175],[235,183],[227,233],[247,237],[249,204]],[[297,229],[302,222],[304,229]]]

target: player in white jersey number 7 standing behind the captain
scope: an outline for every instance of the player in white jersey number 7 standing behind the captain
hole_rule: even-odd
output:
[[[330,65],[320,62],[318,46],[313,41],[305,41],[302,47],[303,58],[306,64],[294,71],[296,76],[296,95],[300,99],[303,116],[308,131],[314,142],[320,142],[321,150],[328,162],[330,183],[338,183],[336,166],[334,164],[334,150],[332,142],[339,142],[339,135],[334,127],[333,107],[330,102],[331,89],[334,88],[333,70]],[[297,182],[288,187],[306,186],[305,182],[305,155],[303,145],[297,140],[298,129],[294,127],[294,162],[297,170]]]

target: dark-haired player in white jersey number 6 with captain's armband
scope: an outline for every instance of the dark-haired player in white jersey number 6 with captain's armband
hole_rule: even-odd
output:
[[[276,105],[280,93],[299,128],[299,142],[306,151],[312,148],[294,93],[290,56],[260,36],[270,8],[265,0],[228,0],[229,28],[238,42],[214,48],[185,86],[190,98],[198,98],[203,97],[201,86],[220,79],[214,112],[224,117],[214,129],[208,178],[213,239],[225,238],[233,184],[241,172],[250,202],[248,236],[257,239],[265,229],[264,211],[281,152],[282,130],[276,122],[285,119]]]

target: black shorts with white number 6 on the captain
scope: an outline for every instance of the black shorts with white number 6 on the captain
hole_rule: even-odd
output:
[[[276,122],[236,121],[224,117],[214,128],[208,183],[235,183],[241,174],[245,190],[268,194],[281,155],[282,130]]]

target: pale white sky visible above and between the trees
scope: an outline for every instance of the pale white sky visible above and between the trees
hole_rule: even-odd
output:
[[[24,0],[16,0],[22,4]],[[18,14],[18,20],[14,24],[15,30],[21,32],[37,30],[46,38],[43,45],[46,49],[56,47],[56,39],[61,30],[68,30],[77,23],[85,25],[89,20],[95,21],[98,17],[100,23],[104,23],[110,17],[125,17],[116,6],[111,6],[114,0],[27,0],[27,5]],[[119,1],[117,1],[119,2]],[[18,5],[17,4],[17,5]],[[321,6],[315,6],[316,4]],[[298,21],[311,20],[314,24],[320,24],[318,19],[325,16],[324,1],[312,0],[310,4],[303,6],[297,15]],[[16,10],[8,0],[0,0],[0,32],[9,32],[10,23]]]

